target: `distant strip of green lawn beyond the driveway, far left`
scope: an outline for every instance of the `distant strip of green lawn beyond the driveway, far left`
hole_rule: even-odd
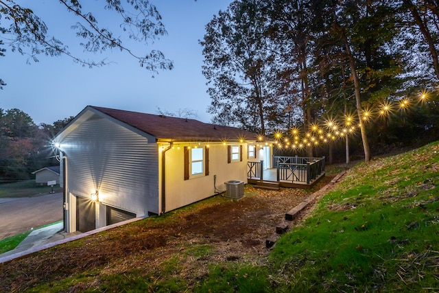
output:
[[[0,185],[0,198],[25,198],[49,194],[50,186],[36,186],[35,180],[26,180],[16,183],[5,183]],[[62,192],[62,187],[54,186],[55,192]]]

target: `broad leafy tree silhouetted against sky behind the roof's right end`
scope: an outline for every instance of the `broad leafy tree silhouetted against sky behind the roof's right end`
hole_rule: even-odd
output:
[[[234,1],[206,25],[200,41],[203,74],[211,96],[209,113],[219,124],[261,132],[276,124],[271,43],[265,36],[263,1]]]

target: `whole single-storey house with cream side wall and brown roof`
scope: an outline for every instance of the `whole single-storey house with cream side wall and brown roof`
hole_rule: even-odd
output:
[[[252,132],[96,106],[53,141],[69,233],[166,213],[224,191],[229,180],[247,183],[247,162],[261,159]]]

